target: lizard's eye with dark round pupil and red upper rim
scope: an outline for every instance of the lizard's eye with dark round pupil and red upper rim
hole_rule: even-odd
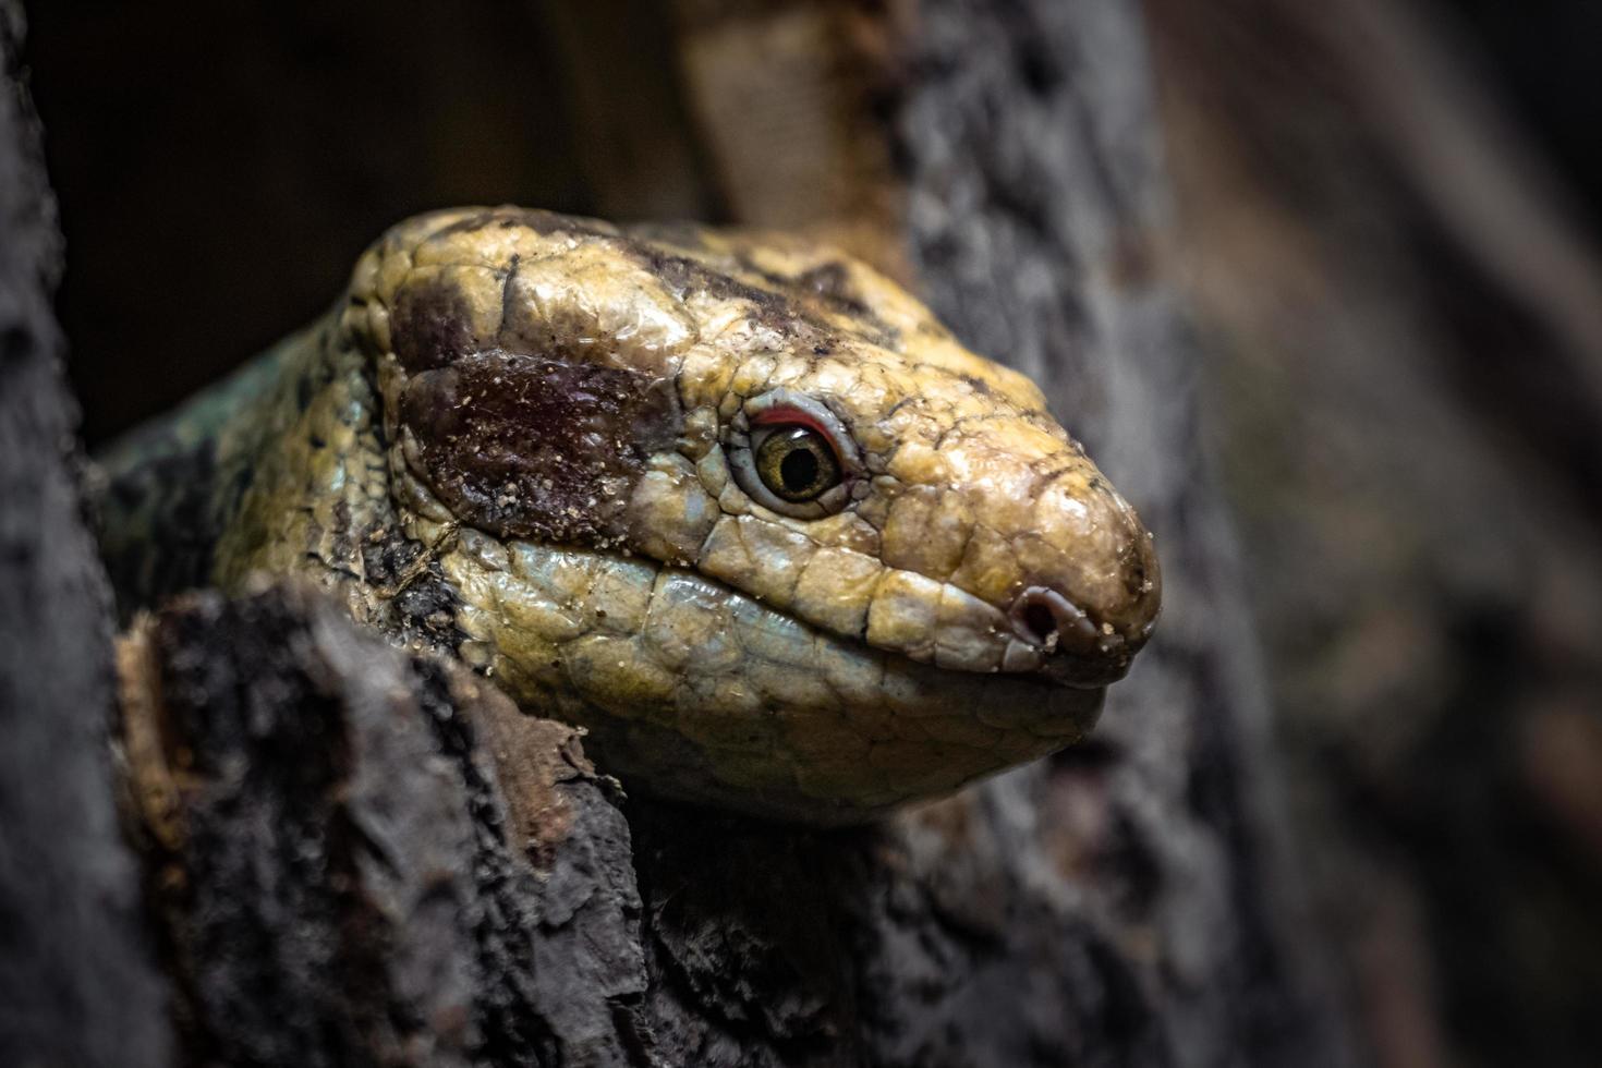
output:
[[[775,389],[734,418],[726,453],[734,480],[753,501],[795,519],[820,519],[849,501],[860,471],[855,444],[835,415]]]

